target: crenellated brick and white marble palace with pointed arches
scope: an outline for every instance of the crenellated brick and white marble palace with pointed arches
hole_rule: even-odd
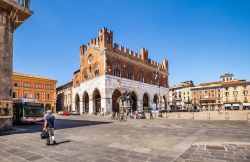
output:
[[[74,73],[72,109],[80,113],[118,111],[117,99],[131,92],[133,111],[168,107],[168,61],[157,63],[140,53],[113,43],[113,32],[99,31],[97,38],[80,46],[80,67]]]

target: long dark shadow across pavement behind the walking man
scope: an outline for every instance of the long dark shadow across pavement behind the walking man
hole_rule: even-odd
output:
[[[55,120],[55,130],[102,125],[102,124],[110,124],[110,123],[113,123],[113,122],[56,119]],[[43,129],[43,123],[26,124],[26,125],[19,124],[19,125],[13,125],[13,128],[10,130],[0,131],[0,136],[11,135],[11,134],[22,134],[22,133],[35,133],[35,132],[41,132],[42,129]]]

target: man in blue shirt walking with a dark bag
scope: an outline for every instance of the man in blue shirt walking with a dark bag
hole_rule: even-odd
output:
[[[52,139],[53,144],[56,144],[54,135],[54,129],[55,129],[54,123],[55,123],[55,116],[52,115],[51,110],[48,110],[47,114],[44,117],[44,128],[43,128],[43,130],[46,130],[49,133],[49,137],[46,139],[47,145],[50,145],[50,138]]]

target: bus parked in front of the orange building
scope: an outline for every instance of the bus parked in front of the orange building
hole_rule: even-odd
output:
[[[44,104],[33,99],[13,99],[13,121],[15,123],[43,122]]]

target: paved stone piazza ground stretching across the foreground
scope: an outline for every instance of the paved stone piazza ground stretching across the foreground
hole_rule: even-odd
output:
[[[41,124],[0,133],[0,161],[250,161],[249,121],[105,117],[56,120],[57,145],[40,139]]]

